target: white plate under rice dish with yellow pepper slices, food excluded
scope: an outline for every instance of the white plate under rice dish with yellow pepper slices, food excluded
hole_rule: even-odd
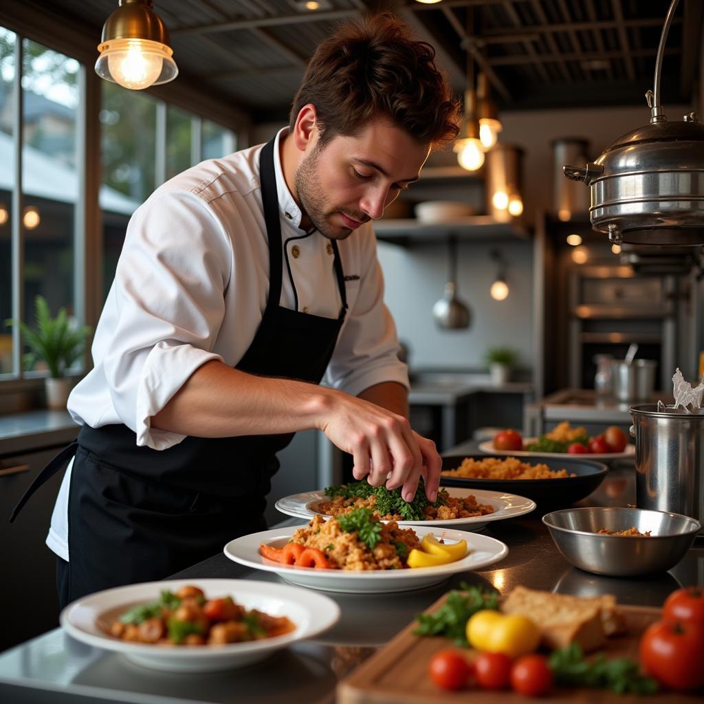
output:
[[[451,529],[439,530],[429,526],[414,528],[415,534],[422,539],[428,533],[433,533],[437,538],[442,538],[447,543],[466,540],[470,552],[462,560],[438,567],[413,567],[408,570],[366,570],[364,572],[316,570],[315,567],[281,565],[279,562],[273,562],[260,555],[260,543],[268,543],[272,547],[282,548],[299,527],[287,526],[242,536],[227,543],[224,550],[225,555],[230,560],[247,567],[253,567],[255,570],[276,572],[279,577],[291,582],[291,584],[344,593],[388,593],[422,589],[422,587],[432,584],[440,584],[456,572],[470,572],[486,567],[486,565],[493,565],[494,562],[503,560],[508,555],[508,547],[499,540],[489,538],[489,536]]]

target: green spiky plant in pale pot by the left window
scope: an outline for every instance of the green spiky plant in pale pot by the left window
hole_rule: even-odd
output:
[[[68,316],[65,308],[58,311],[56,318],[51,318],[44,296],[34,298],[34,310],[36,329],[22,320],[7,320],[6,323],[19,325],[25,344],[30,348],[23,358],[25,369],[32,369],[37,361],[42,360],[49,370],[49,377],[44,379],[46,406],[66,408],[71,389],[71,379],[65,376],[66,370],[82,355],[91,328],[75,325],[75,320]]]

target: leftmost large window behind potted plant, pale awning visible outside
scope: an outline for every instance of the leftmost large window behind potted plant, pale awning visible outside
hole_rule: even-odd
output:
[[[20,39],[0,27],[0,375],[19,377],[13,334],[7,318],[19,315],[33,325],[34,298],[44,296],[51,313],[67,308],[74,313],[75,223],[80,202],[77,170],[77,111],[80,103],[78,76],[81,65],[29,39],[21,40],[22,56],[22,182],[15,177],[18,135],[15,125],[15,91],[18,71],[15,56]],[[12,203],[21,202],[21,219]],[[20,250],[20,251],[18,251]],[[13,272],[13,260],[19,263]],[[21,295],[20,295],[21,294]],[[22,301],[21,307],[18,301]],[[19,310],[18,310],[19,308]],[[15,358],[16,357],[16,358]]]

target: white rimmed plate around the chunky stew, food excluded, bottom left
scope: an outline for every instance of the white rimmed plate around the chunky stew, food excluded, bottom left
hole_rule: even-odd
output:
[[[121,605],[155,601],[163,589],[177,591],[187,584],[199,586],[207,598],[232,596],[246,609],[256,608],[272,616],[287,616],[296,628],[282,636],[248,643],[168,647],[120,641],[98,627],[99,616],[108,610]],[[129,584],[89,594],[63,609],[59,621],[65,631],[78,641],[96,648],[115,650],[144,667],[178,672],[214,672],[263,660],[275,650],[329,629],[339,617],[339,606],[332,599],[286,584],[251,579],[165,579],[163,582]]]

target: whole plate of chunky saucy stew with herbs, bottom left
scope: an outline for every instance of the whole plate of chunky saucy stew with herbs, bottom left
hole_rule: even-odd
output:
[[[210,672],[250,665],[322,633],[339,620],[339,607],[286,584],[166,579],[89,594],[59,620],[73,638],[144,667]]]

